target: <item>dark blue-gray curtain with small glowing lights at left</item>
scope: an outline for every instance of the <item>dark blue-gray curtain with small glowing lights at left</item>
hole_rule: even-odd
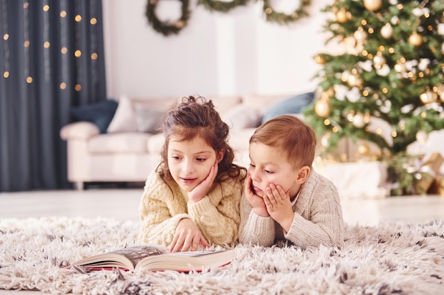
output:
[[[0,6],[0,192],[69,188],[60,129],[106,98],[101,0]]]

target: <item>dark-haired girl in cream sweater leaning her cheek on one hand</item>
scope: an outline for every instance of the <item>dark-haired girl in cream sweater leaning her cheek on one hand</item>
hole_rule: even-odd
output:
[[[162,129],[162,160],[140,200],[141,241],[172,252],[235,243],[246,169],[233,164],[228,125],[211,100],[189,96]]]

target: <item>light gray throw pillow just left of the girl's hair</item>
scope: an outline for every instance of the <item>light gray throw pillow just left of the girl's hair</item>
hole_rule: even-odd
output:
[[[135,120],[139,132],[159,133],[160,120],[167,110],[152,108],[148,105],[135,105]]]

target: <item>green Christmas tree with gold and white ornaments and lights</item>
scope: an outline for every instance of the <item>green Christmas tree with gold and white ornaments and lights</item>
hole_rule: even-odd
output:
[[[333,16],[327,44],[340,40],[345,51],[316,55],[320,82],[304,117],[324,155],[344,137],[376,145],[399,183],[392,195],[409,194],[407,147],[444,128],[444,1],[340,0],[323,11]]]

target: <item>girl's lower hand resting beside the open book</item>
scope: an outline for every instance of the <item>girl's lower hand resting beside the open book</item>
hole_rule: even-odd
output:
[[[204,248],[210,246],[191,219],[181,219],[179,224],[177,224],[174,238],[172,238],[170,251],[172,253],[188,250],[196,251],[199,245],[202,245]]]

